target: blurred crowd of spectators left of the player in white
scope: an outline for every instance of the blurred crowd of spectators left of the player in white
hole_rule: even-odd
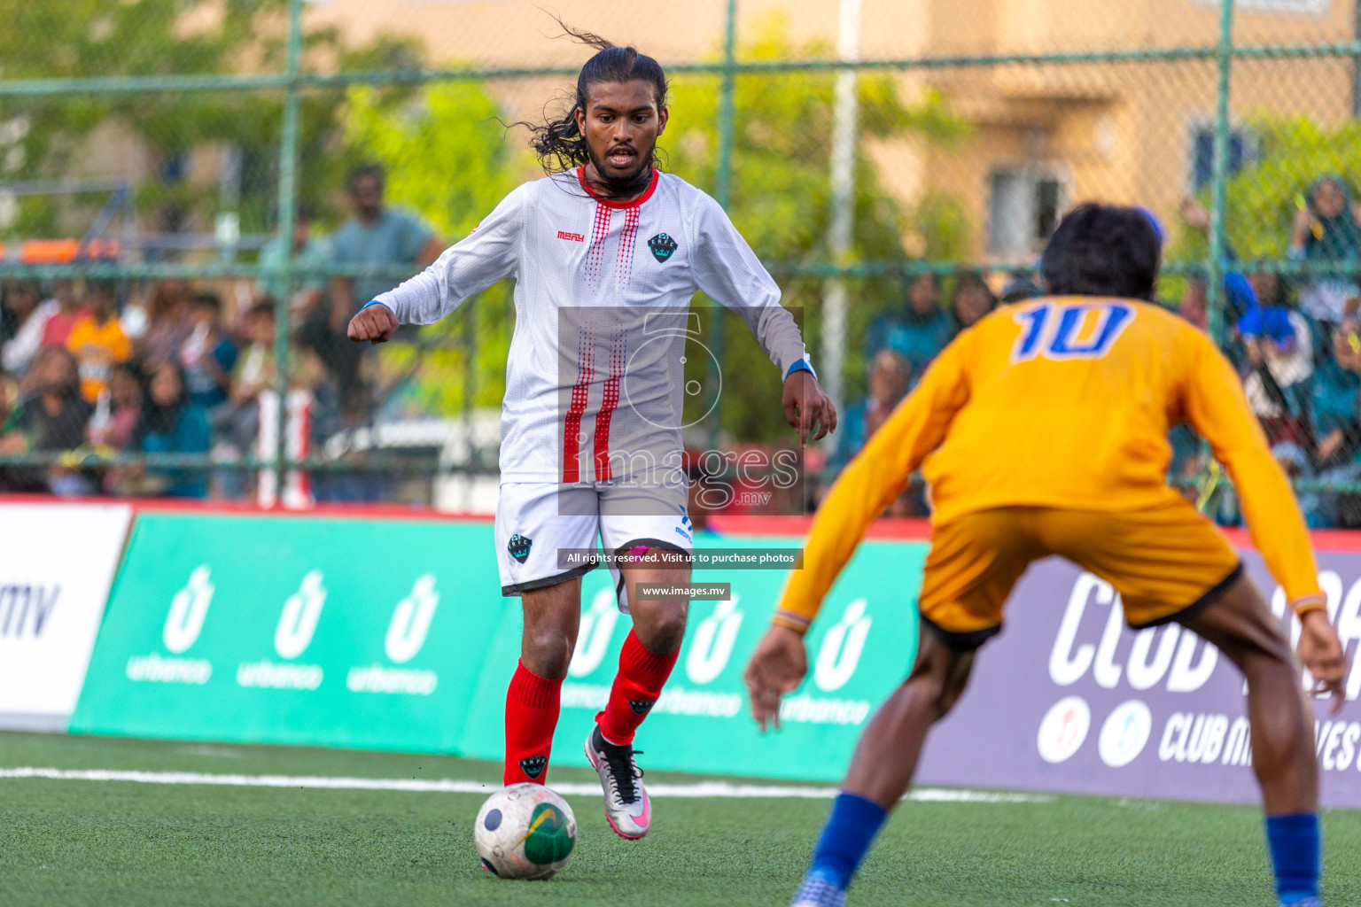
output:
[[[275,239],[261,264],[423,268],[440,239],[419,219],[382,201],[382,171],[348,181],[352,216],[314,237],[299,212],[293,237]],[[380,286],[381,284],[381,286]],[[185,280],[114,283],[11,280],[0,295],[0,453],[65,451],[57,465],[0,466],[0,491],[64,496],[114,494],[240,499],[253,476],[174,462],[90,466],[86,451],[208,454],[220,464],[257,453],[261,400],[275,393],[278,302],[287,296],[289,390],[308,394],[305,431],[321,441],[366,423],[374,407],[365,351],[344,339],[358,305],[392,279],[261,279],[248,291]],[[278,412],[272,408],[271,412]],[[318,488],[325,495],[327,484]],[[336,483],[333,498],[367,496]]]

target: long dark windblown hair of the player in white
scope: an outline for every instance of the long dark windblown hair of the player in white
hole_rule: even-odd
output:
[[[585,109],[587,92],[591,86],[604,82],[646,82],[652,86],[652,97],[657,109],[664,107],[667,102],[667,76],[656,60],[645,53],[638,53],[634,48],[619,48],[595,33],[572,29],[561,19],[558,19],[558,24],[562,26],[565,35],[588,48],[595,48],[596,54],[581,67],[576,97],[562,116],[548,116],[547,122],[542,125],[516,124],[525,126],[532,133],[529,144],[539,155],[543,170],[548,174],[580,167],[589,160],[587,139],[577,129],[577,110]],[[653,166],[656,166],[656,151],[653,151]]]

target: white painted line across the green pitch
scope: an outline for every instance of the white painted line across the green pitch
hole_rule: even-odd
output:
[[[120,771],[110,768],[0,768],[4,778],[46,778],[49,781],[128,781],[140,785],[219,785],[226,787],[316,787],[327,790],[403,790],[434,794],[482,794],[497,790],[495,785],[479,781],[419,779],[419,778],[332,778],[324,775],[218,775],[196,771]],[[553,785],[559,794],[599,795],[599,785]],[[778,785],[732,785],[724,781],[701,781],[690,785],[648,785],[652,797],[800,797],[830,800],[836,787],[795,787]],[[1033,804],[1048,802],[1049,797],[1034,794],[992,793],[984,790],[947,790],[920,787],[908,800],[930,802],[968,804]]]

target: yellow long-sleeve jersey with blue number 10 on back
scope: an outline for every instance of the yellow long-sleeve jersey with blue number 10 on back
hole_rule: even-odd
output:
[[[936,358],[823,500],[774,620],[807,627],[919,466],[936,525],[1006,506],[1157,507],[1177,498],[1168,430],[1180,422],[1228,468],[1290,600],[1322,598],[1289,481],[1210,339],[1143,302],[1055,296],[994,311]]]

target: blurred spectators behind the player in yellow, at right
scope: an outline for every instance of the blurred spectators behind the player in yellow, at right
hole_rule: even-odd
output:
[[[1151,215],[1150,215],[1151,216]],[[1204,205],[1181,207],[1185,226],[1209,234]],[[1160,226],[1161,230],[1161,226]],[[1282,257],[1319,264],[1361,264],[1361,204],[1339,177],[1317,179],[1302,199]],[[1237,261],[1228,249],[1230,261]],[[1040,294],[1028,280],[1009,284],[1000,299],[979,275],[951,281],[942,303],[942,281],[913,280],[905,303],[876,317],[866,337],[868,394],[847,407],[837,472],[864,445],[898,400],[916,383],[940,349],[999,302]],[[1165,284],[1173,284],[1165,280]],[[1165,301],[1188,321],[1207,325],[1207,287],[1188,279],[1180,299]],[[1262,422],[1277,460],[1300,481],[1300,504],[1313,528],[1361,526],[1361,287],[1353,276],[1282,277],[1268,271],[1230,271],[1225,276],[1224,351],[1237,366],[1252,411]],[[1219,522],[1240,521],[1226,485],[1204,481],[1207,453],[1185,424],[1170,435],[1172,479],[1188,498],[1206,504]],[[1309,481],[1313,480],[1313,481]],[[891,507],[900,515],[927,515],[924,490],[913,481]]]

